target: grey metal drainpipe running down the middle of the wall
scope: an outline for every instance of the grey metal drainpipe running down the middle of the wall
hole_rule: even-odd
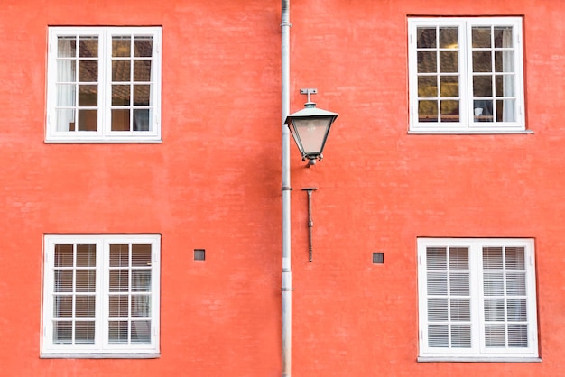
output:
[[[291,271],[291,168],[289,129],[284,124],[290,113],[290,0],[282,0],[282,377],[292,372],[292,271]]]

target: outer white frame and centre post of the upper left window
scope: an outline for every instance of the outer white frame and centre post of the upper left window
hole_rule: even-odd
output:
[[[57,50],[58,38],[70,36],[95,36],[98,38],[97,70],[97,131],[57,130]],[[112,131],[112,37],[151,36],[152,89],[149,131]],[[162,87],[162,28],[161,27],[50,27],[48,36],[47,111],[45,142],[47,143],[160,143],[161,137],[161,87]],[[135,59],[135,58],[134,58]],[[94,84],[94,83],[93,83]],[[134,94],[132,93],[133,97]]]

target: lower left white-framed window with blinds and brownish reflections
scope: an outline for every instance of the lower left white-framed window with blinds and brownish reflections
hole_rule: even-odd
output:
[[[159,353],[160,235],[46,235],[42,355]]]

